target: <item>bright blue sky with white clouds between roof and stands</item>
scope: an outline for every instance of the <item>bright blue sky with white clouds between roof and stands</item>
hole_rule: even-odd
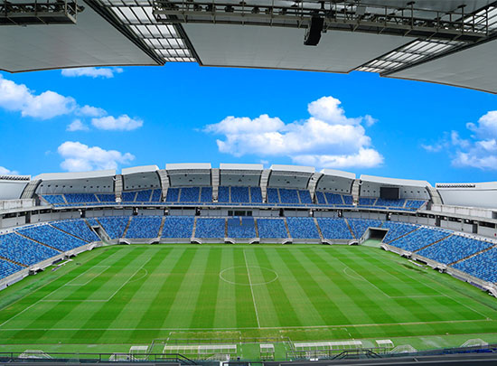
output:
[[[364,72],[188,63],[4,72],[0,173],[262,162],[494,181],[495,98]]]

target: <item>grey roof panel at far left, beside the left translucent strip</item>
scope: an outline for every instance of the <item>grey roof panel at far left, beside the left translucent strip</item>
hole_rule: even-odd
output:
[[[76,25],[0,27],[0,70],[157,65],[89,6]]]

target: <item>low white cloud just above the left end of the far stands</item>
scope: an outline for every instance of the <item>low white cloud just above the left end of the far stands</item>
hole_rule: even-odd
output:
[[[135,159],[129,153],[117,150],[104,150],[80,142],[66,141],[57,149],[64,159],[61,168],[69,172],[82,172],[99,169],[116,169],[118,164],[128,164]]]

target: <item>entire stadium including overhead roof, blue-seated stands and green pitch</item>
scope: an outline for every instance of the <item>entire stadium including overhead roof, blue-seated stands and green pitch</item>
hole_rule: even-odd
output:
[[[496,20],[492,1],[11,1],[0,70],[180,61],[495,93]],[[495,364],[496,260],[497,182],[238,163],[4,174],[0,362]]]

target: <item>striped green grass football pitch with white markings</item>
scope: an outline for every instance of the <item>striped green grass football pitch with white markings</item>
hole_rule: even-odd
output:
[[[2,352],[127,352],[184,338],[497,342],[494,298],[372,247],[104,247],[5,289],[0,309]]]

